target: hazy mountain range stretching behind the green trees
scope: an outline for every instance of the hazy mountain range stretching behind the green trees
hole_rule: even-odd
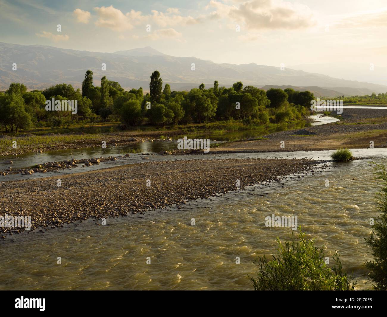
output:
[[[17,70],[12,71],[12,63]],[[106,71],[101,64],[106,63]],[[195,64],[195,70],[191,70]],[[94,72],[94,85],[106,76],[118,81],[125,89],[142,86],[149,90],[149,76],[158,70],[163,83],[173,89],[190,89],[200,83],[211,85],[215,80],[229,86],[236,81],[246,85],[292,85],[297,87],[319,86],[361,88],[376,93],[386,92],[387,86],[337,79],[317,73],[286,68],[251,64],[216,64],[195,57],[174,57],[151,47],[115,53],[68,50],[42,45],[16,45],[0,42],[0,90],[12,82],[26,84],[28,89],[44,89],[58,83],[68,83],[80,88],[87,69]],[[339,95],[343,95],[339,91]]]

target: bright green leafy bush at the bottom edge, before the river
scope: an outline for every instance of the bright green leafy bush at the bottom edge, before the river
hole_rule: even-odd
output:
[[[298,228],[298,238],[292,232],[290,239],[282,243],[277,238],[278,255],[273,259],[259,257],[257,278],[250,277],[255,290],[301,291],[301,290],[331,290],[351,291],[355,289],[356,281],[351,283],[352,276],[347,276],[342,270],[340,255],[335,253],[335,265],[330,268],[325,264],[323,248],[317,248],[313,239],[307,239],[305,233]]]

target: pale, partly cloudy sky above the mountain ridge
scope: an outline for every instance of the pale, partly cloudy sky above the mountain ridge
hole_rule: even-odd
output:
[[[151,46],[216,63],[387,67],[385,0],[0,0],[0,30],[6,43],[94,52]]]

